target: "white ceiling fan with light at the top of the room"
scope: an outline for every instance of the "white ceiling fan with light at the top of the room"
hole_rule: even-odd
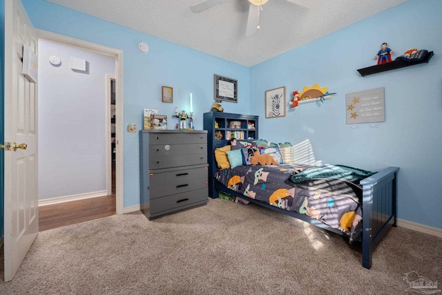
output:
[[[191,6],[191,10],[195,13],[208,10],[213,6],[227,2],[229,0],[204,0]],[[256,30],[260,28],[260,12],[262,11],[262,6],[267,3],[268,0],[247,0],[250,3],[249,7],[249,17],[247,18],[247,28],[246,36],[249,37],[253,35]],[[295,3],[299,6],[304,6],[309,9],[317,8],[323,2],[323,0],[285,0],[291,3]]]

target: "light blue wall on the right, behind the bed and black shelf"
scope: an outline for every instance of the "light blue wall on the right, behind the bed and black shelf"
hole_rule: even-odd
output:
[[[308,138],[316,158],[327,163],[401,167],[398,218],[442,229],[441,13],[442,1],[410,0],[251,68],[251,97],[262,97],[256,104],[260,136],[293,143]],[[434,57],[361,77],[356,69],[376,64],[383,42],[396,51],[394,58],[411,48],[433,50]],[[266,90],[286,86],[291,98],[315,83],[337,95],[265,119]],[[385,122],[347,125],[345,94],[378,87],[385,87]]]

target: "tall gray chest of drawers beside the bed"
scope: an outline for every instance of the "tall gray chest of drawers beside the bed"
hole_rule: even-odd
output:
[[[150,220],[207,203],[207,131],[140,131],[140,209]]]

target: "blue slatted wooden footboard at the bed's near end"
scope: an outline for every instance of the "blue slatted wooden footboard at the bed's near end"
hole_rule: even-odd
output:
[[[397,173],[398,167],[383,171],[361,180],[363,187],[363,233],[362,265],[372,267],[372,252],[397,220]]]

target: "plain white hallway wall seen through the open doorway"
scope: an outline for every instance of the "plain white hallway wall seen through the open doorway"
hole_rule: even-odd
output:
[[[39,200],[106,190],[106,74],[115,58],[39,39]]]

